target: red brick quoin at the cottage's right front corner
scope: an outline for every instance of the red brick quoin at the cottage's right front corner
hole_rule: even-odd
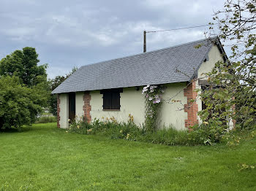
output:
[[[196,102],[191,102],[191,100],[196,100],[197,92],[195,92],[195,81],[191,82],[188,87],[184,89],[184,96],[187,97],[187,104],[184,105],[184,112],[187,112],[187,120],[185,120],[185,127],[189,128],[198,123],[197,112],[198,105]]]

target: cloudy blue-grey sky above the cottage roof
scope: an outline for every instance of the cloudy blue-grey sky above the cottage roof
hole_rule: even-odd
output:
[[[1,0],[0,58],[35,47],[48,77],[143,52],[143,30],[211,22],[223,0]],[[204,38],[205,28],[147,34],[147,50]]]

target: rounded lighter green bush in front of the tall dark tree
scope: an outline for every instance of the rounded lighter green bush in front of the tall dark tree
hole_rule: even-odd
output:
[[[0,129],[21,128],[36,120],[45,103],[41,87],[29,88],[18,77],[0,77]]]

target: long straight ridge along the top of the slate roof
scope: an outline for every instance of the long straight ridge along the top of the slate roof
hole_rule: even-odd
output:
[[[83,67],[86,67],[86,66],[91,66],[91,65],[94,65],[94,64],[105,63],[105,62],[108,62],[108,61],[115,61],[115,60],[122,59],[122,58],[129,58],[129,57],[136,56],[136,55],[146,55],[148,53],[157,52],[159,50],[166,50],[166,49],[173,48],[173,47],[183,46],[185,44],[192,44],[192,43],[195,43],[195,42],[206,41],[208,39],[216,39],[216,38],[217,38],[217,36],[213,36],[213,37],[209,37],[209,38],[206,38],[206,39],[199,39],[199,40],[195,40],[195,41],[192,41],[192,42],[185,42],[185,43],[176,44],[176,45],[173,45],[173,46],[170,46],[170,47],[160,48],[160,49],[157,49],[157,50],[151,50],[149,52],[141,52],[141,53],[134,54],[134,55],[127,55],[127,56],[120,57],[120,58],[112,58],[112,59],[109,59],[109,60],[106,60],[106,61],[99,61],[97,63],[89,63],[89,64],[81,66],[80,68],[83,68]]]

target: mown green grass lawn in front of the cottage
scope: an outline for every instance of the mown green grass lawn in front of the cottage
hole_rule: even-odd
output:
[[[168,147],[66,133],[56,123],[0,133],[0,190],[256,190],[256,140]]]

